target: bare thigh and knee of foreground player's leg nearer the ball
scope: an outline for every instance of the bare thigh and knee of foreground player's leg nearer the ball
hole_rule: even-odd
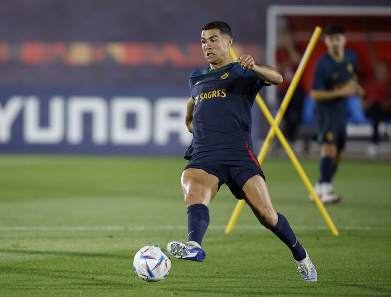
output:
[[[208,206],[217,194],[218,178],[202,169],[188,168],[182,173],[181,185],[187,207],[197,203]]]

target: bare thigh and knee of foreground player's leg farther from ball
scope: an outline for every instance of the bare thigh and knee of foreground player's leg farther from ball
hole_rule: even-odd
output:
[[[263,225],[274,227],[277,224],[277,213],[273,208],[266,183],[260,175],[246,181],[241,195]]]

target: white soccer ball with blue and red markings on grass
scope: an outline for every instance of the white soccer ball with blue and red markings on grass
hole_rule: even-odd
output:
[[[171,269],[171,259],[158,245],[146,245],[134,256],[133,268],[138,277],[145,281],[159,281],[166,278]]]

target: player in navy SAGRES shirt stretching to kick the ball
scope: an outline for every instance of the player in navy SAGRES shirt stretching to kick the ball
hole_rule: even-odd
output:
[[[244,199],[263,226],[270,229],[292,251],[305,281],[316,281],[317,273],[288,221],[271,203],[261,166],[252,152],[251,107],[258,91],[279,84],[282,76],[270,66],[261,66],[250,55],[232,63],[229,50],[231,28],[214,21],[202,28],[201,43],[209,68],[190,75],[192,96],[185,119],[193,141],[185,158],[181,185],[188,214],[188,241],[168,243],[177,258],[202,262],[201,248],[209,225],[208,205],[225,183],[232,194]]]

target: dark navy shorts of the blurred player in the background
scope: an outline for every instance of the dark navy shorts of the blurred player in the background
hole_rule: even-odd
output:
[[[343,150],[347,139],[345,109],[315,107],[315,120],[318,129],[318,143],[335,144]]]

